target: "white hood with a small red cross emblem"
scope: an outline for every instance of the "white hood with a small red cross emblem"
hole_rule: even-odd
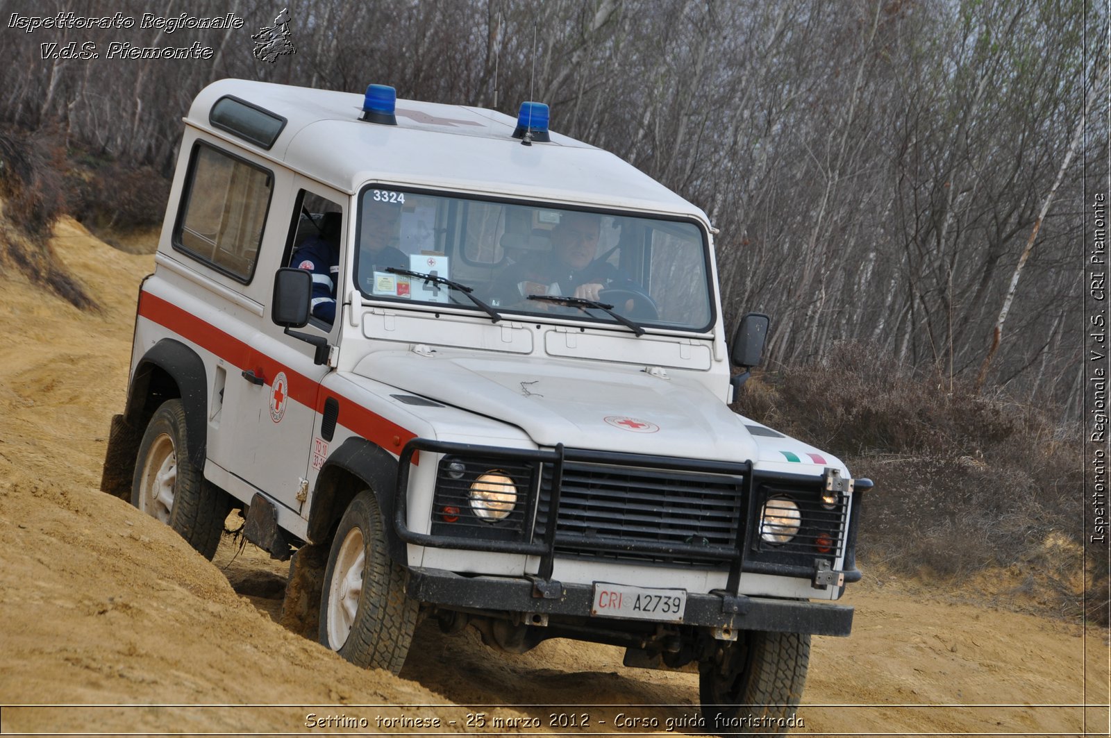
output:
[[[387,351],[354,371],[517,426],[539,446],[720,461],[758,453],[743,418],[704,386],[628,365]]]

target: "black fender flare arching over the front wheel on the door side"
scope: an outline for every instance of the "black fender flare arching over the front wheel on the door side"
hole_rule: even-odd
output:
[[[408,566],[406,545],[393,528],[398,459],[366,438],[349,438],[343,441],[329,455],[320,470],[312,495],[312,508],[309,510],[309,529],[306,533],[309,542],[324,542],[353,495],[360,491],[353,490],[347,496],[338,488],[337,482],[343,472],[358,477],[370,487],[382,511],[387,552],[396,564]]]

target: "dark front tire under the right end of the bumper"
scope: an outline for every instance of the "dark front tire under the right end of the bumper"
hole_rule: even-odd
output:
[[[802,699],[809,662],[809,634],[742,636],[722,651],[720,662],[707,661],[699,669],[707,732],[787,732]]]

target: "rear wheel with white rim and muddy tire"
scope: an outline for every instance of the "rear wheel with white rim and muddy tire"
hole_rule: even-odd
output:
[[[131,503],[169,525],[211,560],[220,545],[229,502],[227,493],[206,481],[190,460],[181,400],[167,400],[151,416],[139,442]]]

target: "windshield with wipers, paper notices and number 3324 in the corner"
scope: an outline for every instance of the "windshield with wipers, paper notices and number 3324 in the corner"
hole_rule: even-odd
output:
[[[370,299],[479,310],[434,275],[522,315],[703,331],[711,292],[692,221],[370,187],[359,202],[354,278]],[[556,298],[575,298],[556,299]]]

